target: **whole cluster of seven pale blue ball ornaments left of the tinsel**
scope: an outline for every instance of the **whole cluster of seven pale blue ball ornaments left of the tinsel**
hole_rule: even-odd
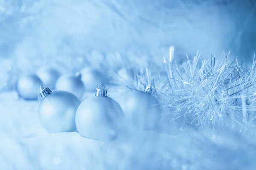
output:
[[[91,68],[64,75],[41,68],[18,79],[17,93],[22,99],[40,101],[38,119],[49,133],[77,130],[85,138],[107,142],[116,139],[126,125],[157,129],[161,110],[152,85],[121,95],[118,103],[108,96],[107,83],[104,74]],[[92,91],[95,96],[81,102],[85,92]]]

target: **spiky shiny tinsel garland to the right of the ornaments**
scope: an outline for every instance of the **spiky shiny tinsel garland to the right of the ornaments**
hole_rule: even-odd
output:
[[[254,125],[256,62],[253,59],[247,71],[237,58],[228,61],[229,54],[222,54],[221,59],[212,55],[199,64],[197,53],[182,65],[166,65],[166,89],[158,91],[169,119],[183,119],[186,127],[213,130],[225,126],[241,131]]]

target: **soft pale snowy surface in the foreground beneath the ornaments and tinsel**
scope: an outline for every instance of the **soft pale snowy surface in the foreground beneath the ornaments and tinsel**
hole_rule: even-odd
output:
[[[15,93],[0,95],[0,169],[254,170],[256,166],[251,134],[180,131],[173,124],[162,132],[123,132],[116,141],[104,143],[76,132],[48,134],[37,109],[38,102],[17,100]]]

